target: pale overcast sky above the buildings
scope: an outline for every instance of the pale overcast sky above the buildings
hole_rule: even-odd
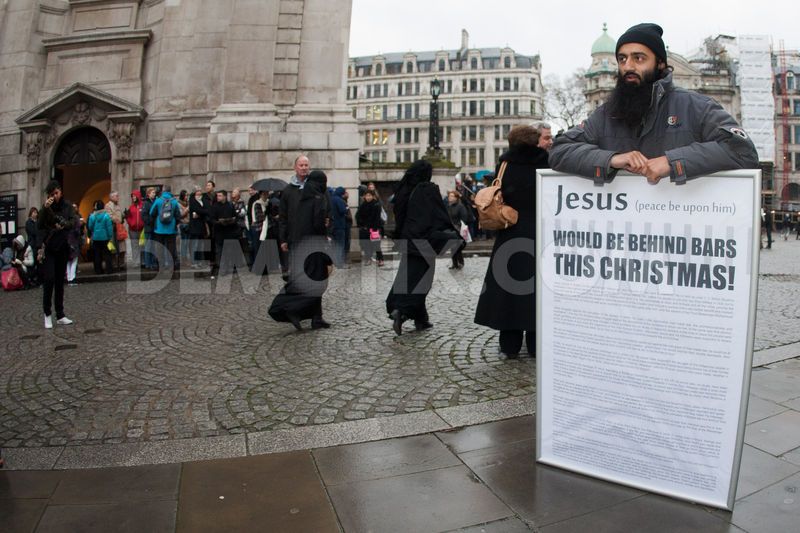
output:
[[[353,0],[350,55],[455,49],[465,28],[472,48],[508,45],[521,54],[541,54],[543,75],[565,76],[589,66],[603,22],[615,40],[634,24],[655,22],[664,28],[670,50],[682,55],[720,33],[771,35],[776,49],[783,39],[786,49],[797,50],[798,5],[797,0]]]

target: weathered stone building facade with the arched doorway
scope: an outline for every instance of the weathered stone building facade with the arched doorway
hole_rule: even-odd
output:
[[[247,187],[296,155],[358,185],[349,0],[7,0],[0,194]]]

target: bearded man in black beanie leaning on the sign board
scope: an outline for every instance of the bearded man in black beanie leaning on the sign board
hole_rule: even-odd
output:
[[[676,184],[720,170],[757,168],[750,137],[708,96],[675,87],[656,24],[637,24],[617,41],[617,85],[580,126],[559,135],[554,170],[602,185],[626,170]]]

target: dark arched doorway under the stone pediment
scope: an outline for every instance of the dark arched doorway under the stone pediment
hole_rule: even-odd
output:
[[[84,220],[96,200],[108,201],[111,192],[111,145],[103,132],[85,127],[68,133],[54,152],[53,178],[64,197],[78,205]]]

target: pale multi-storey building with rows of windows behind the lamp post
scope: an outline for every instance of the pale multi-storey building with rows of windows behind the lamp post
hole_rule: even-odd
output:
[[[353,57],[347,103],[368,159],[407,163],[425,154],[434,78],[441,82],[440,146],[464,173],[493,170],[511,126],[543,116],[539,56],[470,48],[466,30],[455,50]]]

